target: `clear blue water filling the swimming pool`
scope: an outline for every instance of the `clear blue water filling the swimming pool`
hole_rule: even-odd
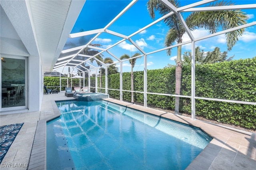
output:
[[[47,169],[183,170],[212,140],[198,128],[106,101],[56,102]]]

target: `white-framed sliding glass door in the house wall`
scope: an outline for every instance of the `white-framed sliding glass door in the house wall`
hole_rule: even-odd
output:
[[[27,109],[27,57],[1,55],[1,111]]]

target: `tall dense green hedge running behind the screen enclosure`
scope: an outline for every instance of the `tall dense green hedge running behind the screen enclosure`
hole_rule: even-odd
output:
[[[196,65],[196,96],[256,102],[256,57]],[[46,77],[45,77],[46,78]],[[55,78],[55,77],[53,77]],[[58,77],[57,77],[58,78]],[[130,73],[123,73],[123,90],[131,90]],[[88,81],[86,79],[86,81]],[[108,75],[108,88],[120,89],[120,74]],[[134,90],[143,92],[144,72],[134,72]],[[59,81],[58,81],[59,82]],[[98,77],[98,87],[100,86]],[[175,67],[148,70],[148,92],[175,94]],[[74,85],[74,83],[73,83]],[[79,84],[78,84],[79,85]],[[95,78],[91,78],[95,87]],[[105,76],[102,77],[105,87]],[[103,90],[104,91],[104,90]],[[108,90],[110,97],[119,99],[118,90]],[[182,67],[181,95],[191,96],[191,67]],[[148,94],[148,105],[174,110],[175,97]],[[131,93],[123,92],[123,100],[131,101]],[[134,93],[134,101],[144,102],[143,93]],[[180,98],[180,112],[191,114],[190,98]],[[196,115],[221,123],[256,129],[256,105],[244,105],[196,99]]]

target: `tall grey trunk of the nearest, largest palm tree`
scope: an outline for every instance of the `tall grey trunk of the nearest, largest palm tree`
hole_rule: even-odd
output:
[[[180,86],[181,86],[181,77],[182,77],[182,60],[181,60],[181,45],[177,49],[177,60],[176,60],[176,70],[175,70],[175,94],[180,95]],[[180,97],[175,97],[175,110],[174,114],[182,115],[179,112],[180,108]]]

